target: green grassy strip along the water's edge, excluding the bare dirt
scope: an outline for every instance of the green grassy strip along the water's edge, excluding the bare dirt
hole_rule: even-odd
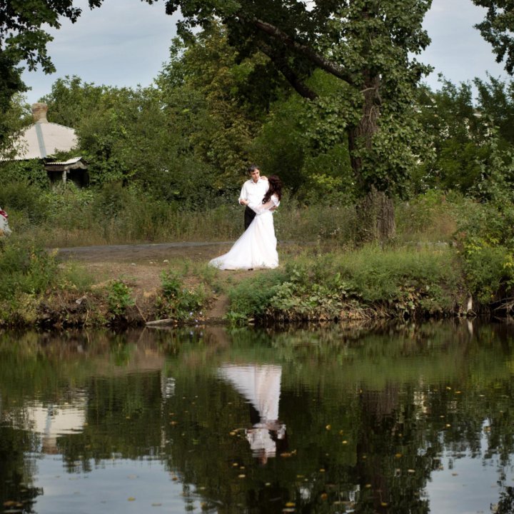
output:
[[[10,273],[0,288],[0,326],[202,323],[223,296],[230,323],[406,320],[461,315],[469,294],[458,252],[448,246],[283,246],[280,268],[243,273],[177,260],[151,295],[138,293],[130,276],[92,276],[80,263],[58,263],[14,239],[4,243],[0,270]]]

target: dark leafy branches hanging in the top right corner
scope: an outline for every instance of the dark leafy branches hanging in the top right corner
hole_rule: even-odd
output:
[[[514,0],[473,0],[485,7],[485,19],[475,27],[483,39],[493,45],[496,61],[505,61],[508,74],[514,73]]]

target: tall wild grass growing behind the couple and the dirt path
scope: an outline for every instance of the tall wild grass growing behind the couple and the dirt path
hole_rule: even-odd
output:
[[[139,242],[233,241],[243,231],[243,208],[236,197],[211,198],[206,206],[155,200],[133,188],[44,192],[9,184],[0,192],[11,228],[46,247]],[[467,203],[438,191],[396,205],[397,242],[450,241]],[[317,242],[351,248],[359,223],[353,206],[321,198],[311,206],[285,198],[274,215],[280,241]]]

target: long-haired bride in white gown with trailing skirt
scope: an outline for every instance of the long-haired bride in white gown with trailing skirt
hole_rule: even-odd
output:
[[[248,201],[241,201],[243,205],[248,205],[256,212],[256,217],[243,235],[233,243],[230,251],[213,258],[209,266],[225,270],[278,266],[273,211],[280,205],[282,183],[278,176],[272,175],[268,178],[268,184],[268,192],[264,195],[262,203],[251,205]]]

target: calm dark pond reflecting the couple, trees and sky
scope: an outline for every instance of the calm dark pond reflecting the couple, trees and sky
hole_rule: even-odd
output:
[[[514,328],[0,333],[0,512],[512,513]]]

